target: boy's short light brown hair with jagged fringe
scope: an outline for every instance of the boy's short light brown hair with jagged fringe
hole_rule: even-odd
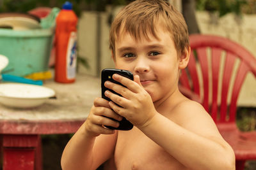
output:
[[[137,0],[125,6],[111,25],[109,48],[115,57],[115,41],[123,31],[138,40],[148,39],[148,33],[159,39],[158,27],[170,32],[178,56],[182,55],[189,46],[188,27],[182,14],[163,0]]]

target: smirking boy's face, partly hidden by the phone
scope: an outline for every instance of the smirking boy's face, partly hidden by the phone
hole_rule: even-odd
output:
[[[136,41],[129,33],[115,41],[115,66],[140,76],[141,85],[156,102],[177,88],[179,68],[183,68],[170,33],[159,29],[156,39],[148,35]]]

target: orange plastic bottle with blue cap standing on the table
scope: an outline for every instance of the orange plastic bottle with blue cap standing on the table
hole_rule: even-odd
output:
[[[77,16],[68,1],[56,18],[55,81],[72,83],[76,80]]]

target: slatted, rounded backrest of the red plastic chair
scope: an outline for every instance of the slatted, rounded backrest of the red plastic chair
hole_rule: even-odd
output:
[[[256,59],[227,38],[189,36],[191,55],[179,83],[202,99],[214,122],[235,122],[237,97],[248,72],[256,76]]]

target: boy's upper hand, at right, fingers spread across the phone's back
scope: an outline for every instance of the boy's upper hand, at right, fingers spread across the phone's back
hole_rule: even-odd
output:
[[[143,89],[140,83],[140,77],[136,75],[134,76],[134,81],[132,81],[119,74],[114,74],[113,79],[122,83],[125,87],[106,81],[105,87],[122,95],[121,97],[106,91],[105,95],[113,101],[109,102],[109,106],[118,113],[118,115],[125,117],[133,125],[139,128],[147,126],[154,115],[156,115],[157,111],[150,95]]]

